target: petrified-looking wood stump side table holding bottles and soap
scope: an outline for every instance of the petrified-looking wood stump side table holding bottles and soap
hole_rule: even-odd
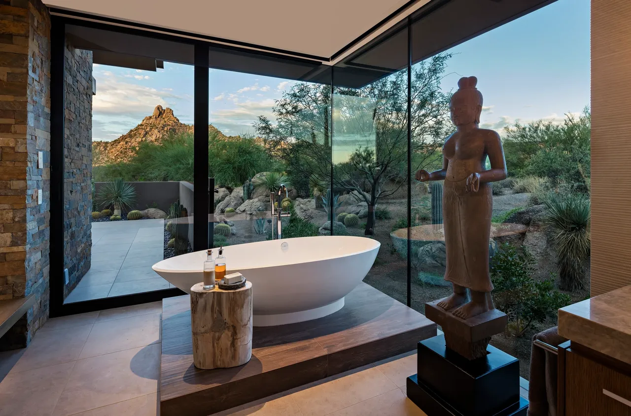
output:
[[[199,369],[237,367],[252,357],[252,283],[237,290],[191,287],[193,363]]]

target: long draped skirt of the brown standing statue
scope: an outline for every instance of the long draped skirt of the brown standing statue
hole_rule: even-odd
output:
[[[478,192],[466,191],[466,179],[445,179],[442,212],[447,264],[445,280],[476,292],[491,292],[488,242],[493,211],[492,188],[480,183]]]

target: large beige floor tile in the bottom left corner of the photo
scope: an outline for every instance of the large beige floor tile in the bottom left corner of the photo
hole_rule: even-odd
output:
[[[50,416],[74,362],[16,372],[0,383],[0,416]]]

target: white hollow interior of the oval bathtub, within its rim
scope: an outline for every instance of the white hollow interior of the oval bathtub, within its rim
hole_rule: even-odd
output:
[[[224,255],[230,270],[247,270],[341,258],[372,251],[379,246],[379,241],[348,235],[298,237],[227,246]],[[199,271],[205,258],[205,251],[196,251],[160,261],[154,270]]]

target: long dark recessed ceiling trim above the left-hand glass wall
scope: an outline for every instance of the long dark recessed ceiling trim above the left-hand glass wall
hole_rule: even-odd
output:
[[[283,49],[248,44],[247,42],[239,42],[236,40],[221,39],[214,36],[200,35],[198,33],[184,32],[182,30],[156,27],[153,25],[146,25],[144,23],[136,23],[132,21],[120,20],[120,19],[110,18],[107,16],[91,15],[89,13],[81,13],[78,11],[63,9],[63,8],[58,8],[58,7],[49,8],[49,11],[50,11],[50,15],[54,15],[54,16],[72,18],[76,20],[91,21],[94,23],[105,23],[107,25],[112,25],[112,26],[117,26],[117,27],[142,30],[144,32],[162,33],[163,35],[170,35],[170,36],[180,37],[184,39],[202,40],[204,42],[208,42],[212,44],[239,47],[240,49],[247,49],[249,51],[268,52],[268,53],[272,53],[276,55],[282,55],[282,56],[293,57],[293,58],[298,58],[298,59],[307,59],[309,61],[319,61],[322,63],[328,63],[330,61],[329,58],[323,57],[323,56],[303,54],[301,52],[285,51]]]

